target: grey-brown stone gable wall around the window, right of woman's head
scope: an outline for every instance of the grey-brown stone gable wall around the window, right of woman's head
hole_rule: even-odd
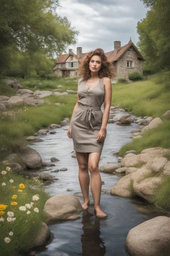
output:
[[[127,67],[127,61],[133,61],[133,67]],[[133,47],[118,60],[118,68],[116,72],[116,77],[125,77],[128,79],[129,73],[132,71],[138,71],[141,75],[143,75],[142,70],[143,61],[141,59],[137,59],[137,53]]]

